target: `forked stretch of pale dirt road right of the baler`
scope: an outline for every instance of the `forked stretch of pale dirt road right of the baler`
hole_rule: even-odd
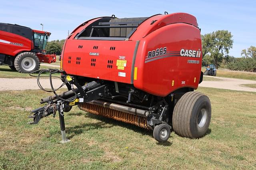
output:
[[[242,86],[242,84],[256,84],[256,81],[244,80],[244,79],[231,79],[231,78],[224,78],[224,77],[214,77],[214,76],[207,76],[207,75],[204,75],[204,76],[221,79],[221,80],[220,81],[203,81],[202,83],[199,84],[199,87],[213,87],[218,89],[256,92],[256,88]]]

